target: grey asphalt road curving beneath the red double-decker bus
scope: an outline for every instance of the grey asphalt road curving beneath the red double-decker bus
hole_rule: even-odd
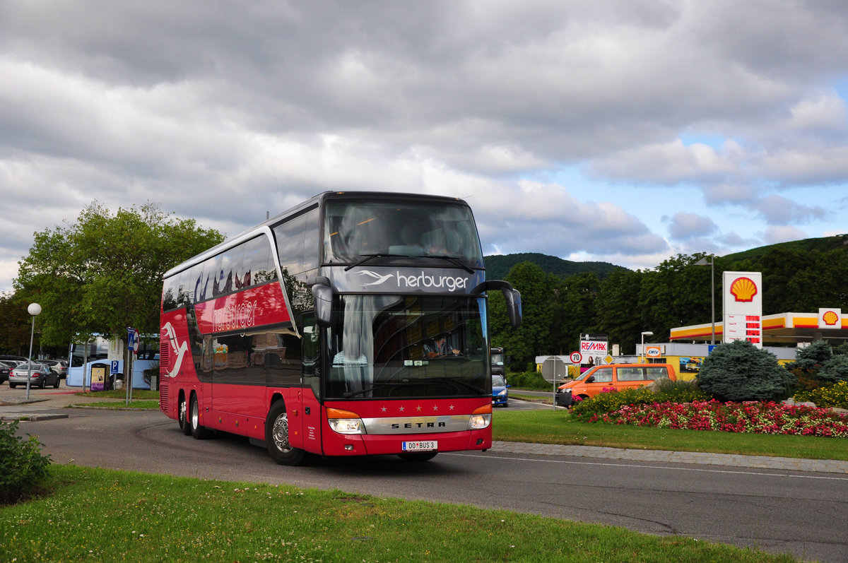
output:
[[[285,467],[245,438],[183,436],[159,412],[61,412],[69,418],[21,423],[59,463],[473,504],[848,561],[845,475],[494,450]]]

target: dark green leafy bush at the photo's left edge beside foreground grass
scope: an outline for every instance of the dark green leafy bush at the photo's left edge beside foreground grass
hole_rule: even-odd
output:
[[[42,455],[35,436],[16,434],[18,421],[0,422],[0,504],[13,504],[32,496],[47,477],[50,456]]]

